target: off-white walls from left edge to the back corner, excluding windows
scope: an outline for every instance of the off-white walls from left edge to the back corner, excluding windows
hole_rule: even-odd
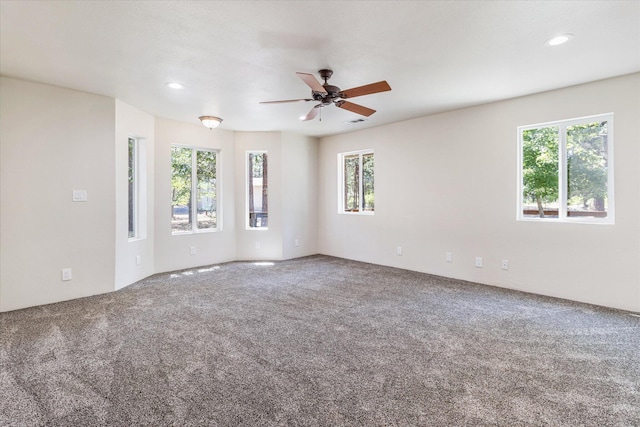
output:
[[[1,101],[0,311],[110,292],[157,272],[317,252],[316,138],[209,131],[119,100],[7,78]],[[134,240],[129,137],[142,142],[147,190],[146,233]],[[171,235],[172,144],[220,150],[221,230]],[[247,150],[269,153],[268,230],[245,228]],[[72,202],[73,189],[87,190],[89,200]],[[62,268],[72,268],[71,281],[61,281]]]

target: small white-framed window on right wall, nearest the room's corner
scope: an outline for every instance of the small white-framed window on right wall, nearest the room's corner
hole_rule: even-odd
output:
[[[373,214],[373,151],[338,154],[339,213]]]

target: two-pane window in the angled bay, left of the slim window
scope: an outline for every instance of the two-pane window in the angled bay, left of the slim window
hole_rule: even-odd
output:
[[[217,152],[171,147],[171,232],[218,229]]]

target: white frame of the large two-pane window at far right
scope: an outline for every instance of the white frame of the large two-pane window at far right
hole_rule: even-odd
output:
[[[607,125],[607,216],[596,217],[570,217],[567,216],[567,127],[593,123],[595,121],[606,121]],[[522,209],[522,192],[524,188],[522,174],[522,149],[524,131],[539,129],[544,127],[558,127],[558,217],[538,218],[525,217]],[[582,223],[582,224],[614,224],[615,223],[615,200],[614,200],[614,126],[613,113],[596,114],[592,116],[577,117],[566,120],[556,120],[552,122],[538,123],[533,125],[518,126],[518,188],[516,203],[516,220],[532,222],[555,222],[555,223]]]

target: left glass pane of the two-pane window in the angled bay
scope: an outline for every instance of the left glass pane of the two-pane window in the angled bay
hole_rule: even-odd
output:
[[[191,231],[191,149],[171,147],[171,232]]]

